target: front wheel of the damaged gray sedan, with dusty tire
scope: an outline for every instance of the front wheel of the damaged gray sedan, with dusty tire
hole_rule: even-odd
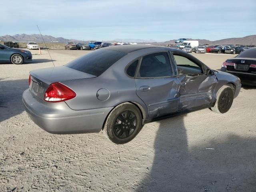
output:
[[[214,107],[211,108],[216,113],[226,113],[231,108],[234,100],[234,90],[228,86],[222,86],[217,92],[217,99]]]

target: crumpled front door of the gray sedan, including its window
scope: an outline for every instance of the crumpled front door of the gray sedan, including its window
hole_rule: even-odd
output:
[[[173,52],[173,58],[180,81],[178,110],[210,105],[218,82],[214,72],[188,55]]]

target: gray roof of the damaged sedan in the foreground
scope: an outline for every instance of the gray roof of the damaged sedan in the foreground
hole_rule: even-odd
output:
[[[158,45],[122,45],[122,46],[110,46],[106,47],[104,49],[123,52],[123,53],[130,53],[141,49],[147,49],[147,48],[163,48],[164,46],[158,46]],[[166,48],[166,47],[164,47]]]

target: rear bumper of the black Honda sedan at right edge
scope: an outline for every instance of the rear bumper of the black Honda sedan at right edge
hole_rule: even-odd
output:
[[[220,70],[239,77],[241,80],[241,84],[256,86],[256,74],[246,73],[242,71],[228,71],[224,67],[222,67]]]

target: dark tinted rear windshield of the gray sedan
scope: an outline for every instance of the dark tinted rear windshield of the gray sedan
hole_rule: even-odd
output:
[[[99,49],[69,62],[66,66],[81,72],[100,76],[125,55],[126,53],[122,52]]]

